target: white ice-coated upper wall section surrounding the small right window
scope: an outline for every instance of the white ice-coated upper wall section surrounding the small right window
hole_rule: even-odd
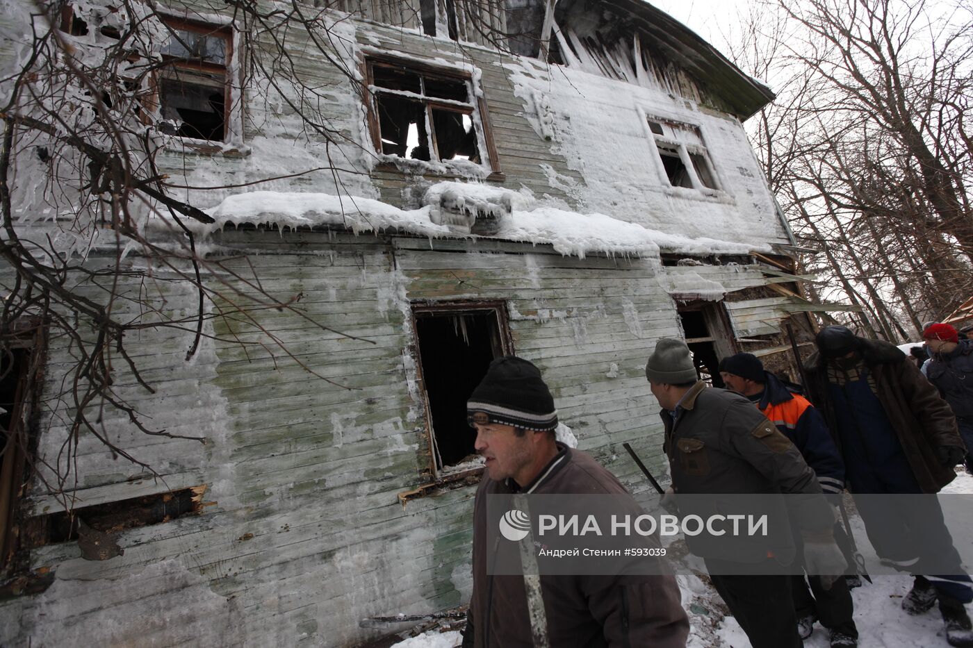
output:
[[[552,151],[583,178],[572,184],[548,169],[552,186],[570,184],[570,195],[584,208],[672,234],[755,247],[789,242],[746,133],[734,117],[671,94],[662,85],[635,86],[526,58],[505,67],[538,137],[553,131]],[[538,114],[546,116],[547,125]],[[648,125],[653,118],[700,129],[719,190],[669,185]]]

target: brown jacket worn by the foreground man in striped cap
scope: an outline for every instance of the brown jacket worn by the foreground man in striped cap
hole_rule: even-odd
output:
[[[614,475],[580,450],[559,446],[558,456],[524,492],[631,494]],[[470,623],[477,648],[532,648],[523,576],[492,576],[486,495],[517,492],[486,474],[477,490],[473,526]],[[634,502],[632,501],[634,505]],[[672,576],[550,576],[540,578],[552,648],[685,648],[689,621]],[[464,638],[464,645],[468,639]]]

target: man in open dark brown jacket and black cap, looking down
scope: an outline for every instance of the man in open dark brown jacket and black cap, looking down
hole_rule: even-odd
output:
[[[848,490],[858,494],[936,493],[953,481],[965,450],[936,388],[888,342],[828,326],[805,364],[811,402],[824,414],[845,460]],[[909,614],[939,600],[947,640],[973,646],[964,603],[973,600],[939,502],[917,497],[855,497],[868,539],[887,563],[916,575],[902,599]],[[955,565],[931,576],[923,562]],[[918,574],[925,573],[924,576]]]

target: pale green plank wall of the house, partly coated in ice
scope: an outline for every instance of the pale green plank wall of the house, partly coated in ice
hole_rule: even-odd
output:
[[[202,3],[194,11],[227,15]],[[659,337],[681,333],[671,295],[715,299],[721,290],[760,285],[758,270],[689,272],[658,262],[661,250],[739,254],[783,239],[734,120],[663,90],[327,17],[338,66],[309,54],[306,34],[289,34],[288,43],[302,78],[321,92],[318,105],[341,134],[337,143],[294,114],[289,100],[297,90],[282,82],[273,88],[258,75],[244,92],[238,140],[217,153],[172,141],[162,170],[172,184],[191,187],[174,195],[227,224],[344,224],[361,234],[228,226],[200,242],[211,259],[242,276],[256,273],[280,299],[301,295],[301,311],[260,308],[252,325],[214,319],[206,329],[212,337],[191,362],[184,360],[191,334],[133,336],[130,347],[157,392],[146,392],[124,366],[115,389],[138,403],[151,427],[205,443],[147,437],[125,415],[109,413],[106,432],[164,480],[148,479],[83,436],[71,473],[78,482],[67,490],[83,507],[205,486],[206,506],[197,516],[120,532],[125,553],[105,561],[83,558],[75,542],[35,549],[30,569],[54,574],[54,584],[0,602],[0,643],[343,646],[376,634],[359,628],[362,617],[463,603],[472,488],[406,506],[398,499],[428,479],[411,303],[506,304],[516,352],[541,367],[579,447],[639,488],[637,467],[618,449],[630,442],[653,469],[664,463],[642,367]],[[377,165],[353,83],[369,52],[458,67],[477,81],[504,174],[486,184],[519,197],[497,239],[453,236],[428,217],[431,188],[435,195],[443,182],[483,178],[483,169],[464,175],[419,162]],[[651,135],[639,130],[645,115],[700,126],[722,194],[666,186]],[[275,179],[250,184],[269,176]],[[224,185],[234,187],[194,189]],[[504,241],[504,233],[520,242]],[[98,264],[97,254],[89,263]],[[142,262],[132,254],[127,263],[139,269]],[[164,270],[153,272],[165,312],[191,317],[195,294],[165,281]],[[240,281],[207,277],[219,290],[223,280]],[[77,290],[104,296],[90,285]],[[242,347],[240,340],[267,342],[257,325],[297,361],[279,349],[271,357],[266,346]],[[54,341],[39,449],[54,465],[71,408],[55,396],[71,366],[70,350]],[[35,514],[58,504],[35,482],[27,502]]]

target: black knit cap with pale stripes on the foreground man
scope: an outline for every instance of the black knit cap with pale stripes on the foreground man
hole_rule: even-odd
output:
[[[558,427],[554,397],[540,370],[513,355],[489,363],[466,402],[466,415],[471,425],[501,423],[538,432]]]

